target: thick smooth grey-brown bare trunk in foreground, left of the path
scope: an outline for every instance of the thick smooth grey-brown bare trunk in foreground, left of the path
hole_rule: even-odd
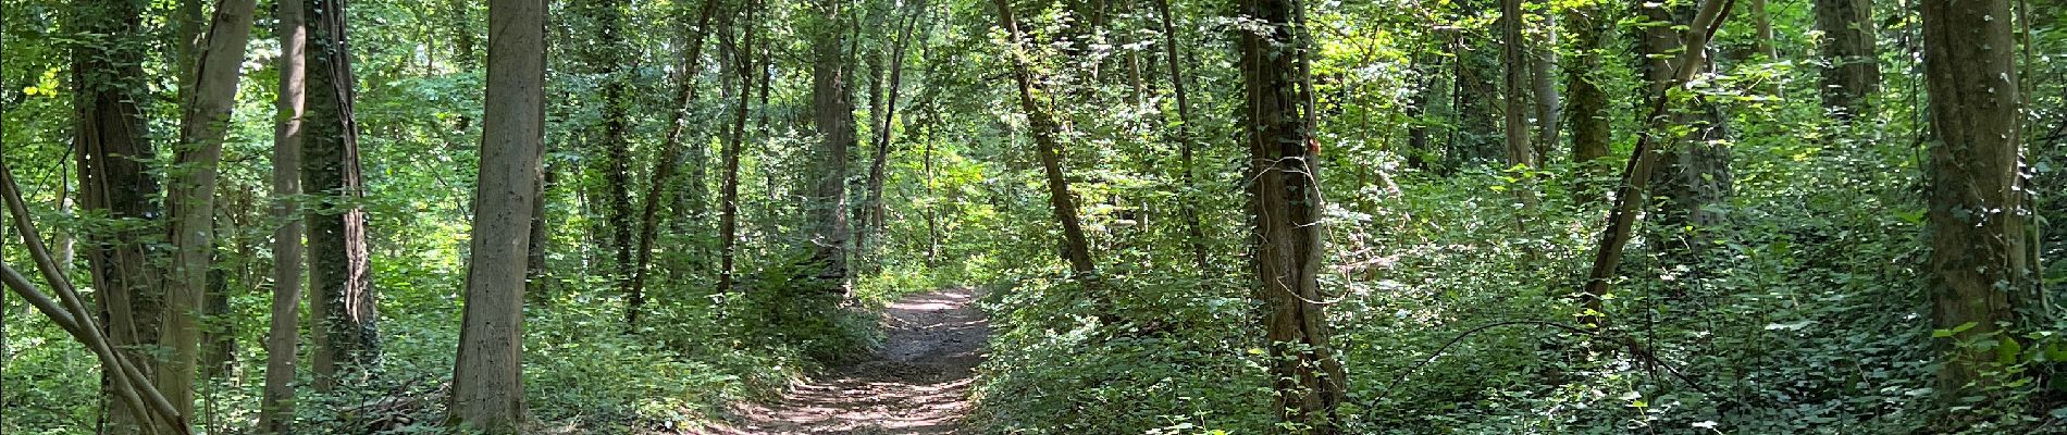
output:
[[[546,2],[490,0],[488,29],[482,175],[451,423],[517,433],[525,421],[525,258],[546,150]]]

